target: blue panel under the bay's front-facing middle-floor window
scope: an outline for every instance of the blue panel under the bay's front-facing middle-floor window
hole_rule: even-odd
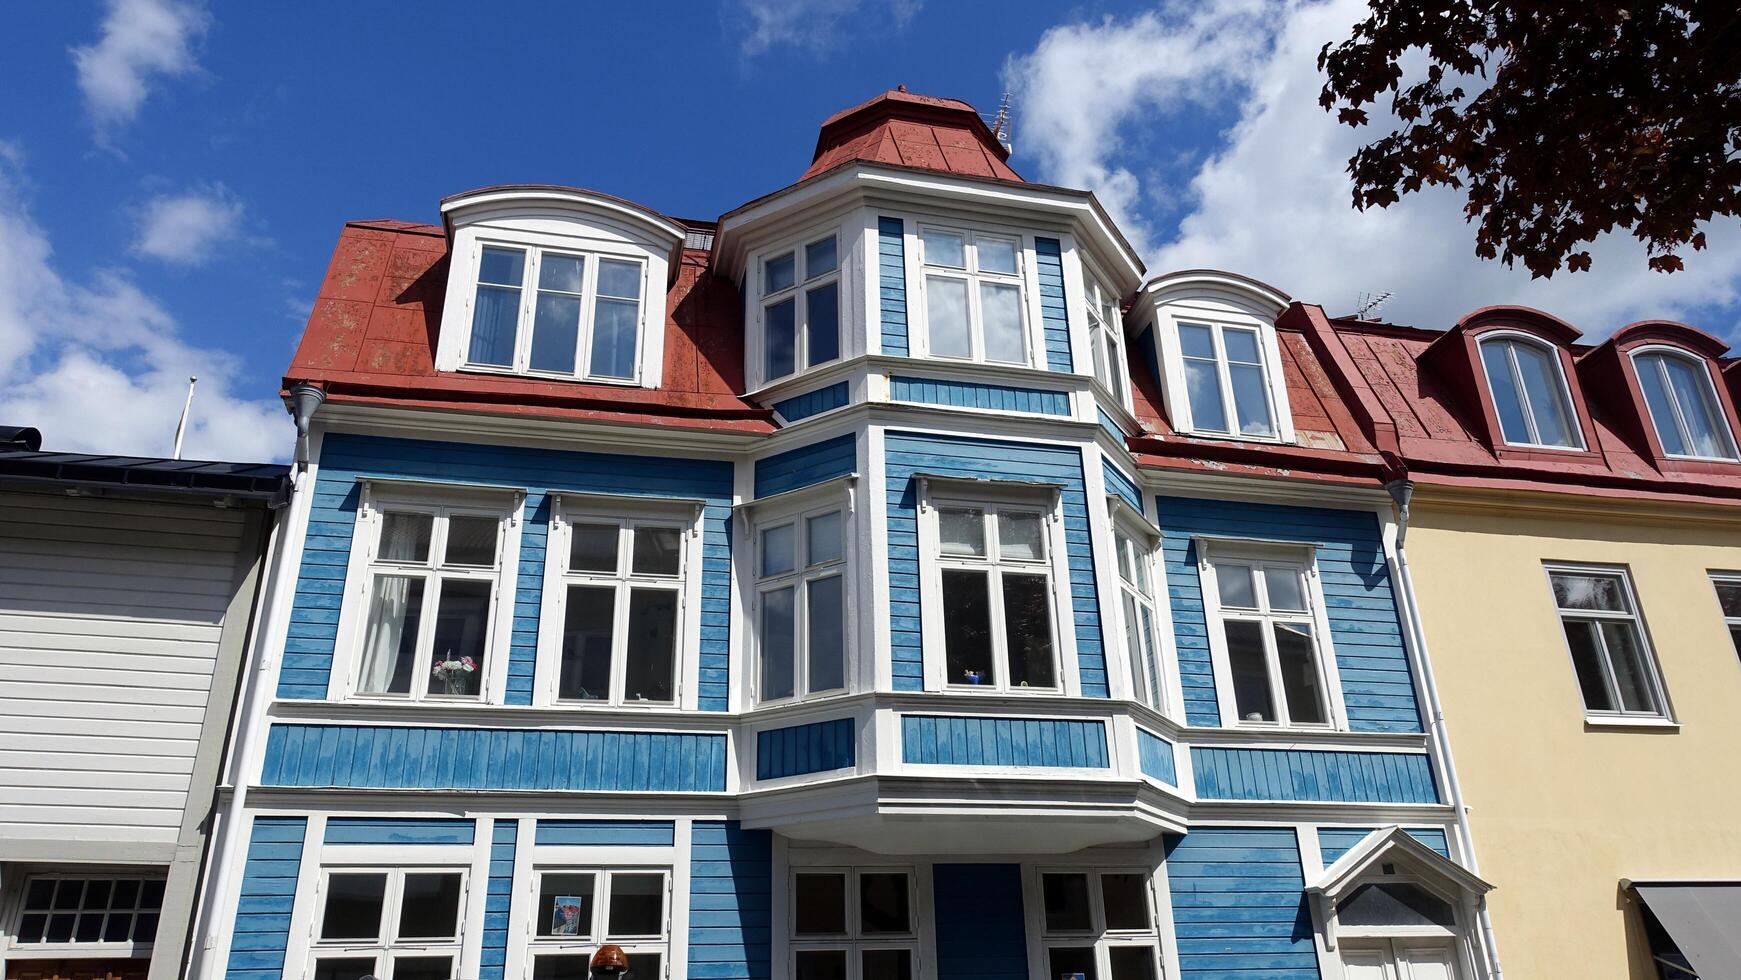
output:
[[[928,766],[1111,768],[1106,724],[1038,717],[900,715],[900,757]]]

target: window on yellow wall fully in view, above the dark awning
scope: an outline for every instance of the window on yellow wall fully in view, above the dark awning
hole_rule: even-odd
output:
[[[1548,580],[1584,714],[1595,719],[1668,717],[1663,679],[1626,569],[1548,566]]]

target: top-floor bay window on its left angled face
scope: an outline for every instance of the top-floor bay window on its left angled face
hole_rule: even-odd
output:
[[[834,233],[761,261],[763,383],[841,355],[841,261]]]

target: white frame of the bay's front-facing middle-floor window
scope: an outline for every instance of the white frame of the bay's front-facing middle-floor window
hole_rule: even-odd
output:
[[[938,512],[952,508],[982,510],[985,520],[985,557],[944,555]],[[1017,560],[998,555],[998,510],[1041,515],[1046,555],[1041,560]],[[947,675],[949,651],[944,634],[945,569],[987,573],[991,597],[992,677],[991,682],[963,684]],[[1008,637],[1003,623],[1003,573],[1045,574],[1053,634],[1052,688],[1012,688],[1008,684]],[[1022,484],[977,484],[947,479],[923,479],[919,487],[919,574],[926,691],[973,695],[1074,695],[1081,689],[1076,663],[1076,618],[1071,614],[1069,552],[1064,536],[1062,500],[1057,487]]]

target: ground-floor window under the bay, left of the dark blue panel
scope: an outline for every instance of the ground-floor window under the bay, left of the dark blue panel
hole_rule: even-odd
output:
[[[792,872],[792,980],[912,980],[919,977],[912,869]]]

